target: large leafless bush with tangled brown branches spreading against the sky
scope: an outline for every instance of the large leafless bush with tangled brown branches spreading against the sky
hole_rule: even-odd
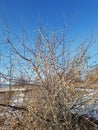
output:
[[[75,40],[68,36],[68,29],[49,32],[38,26],[33,35],[25,30],[19,35],[7,28],[4,40],[0,40],[2,48],[7,48],[7,53],[3,50],[0,55],[2,82],[7,81],[12,89],[16,79],[23,76],[32,86],[31,96],[22,106],[17,103],[12,106],[10,98],[5,102],[11,111],[7,110],[2,129],[78,130],[78,119],[73,123],[71,113],[82,110],[90,100],[83,98],[87,92],[77,88],[85,86],[84,77],[90,67],[88,51],[94,43],[92,37],[76,47]]]

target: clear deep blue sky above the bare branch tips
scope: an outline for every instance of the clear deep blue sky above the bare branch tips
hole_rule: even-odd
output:
[[[5,16],[14,30],[20,30],[23,22],[31,31],[40,19],[58,29],[65,17],[67,23],[74,23],[71,35],[98,36],[98,0],[0,0],[0,22]],[[97,49],[96,43],[91,53]]]

